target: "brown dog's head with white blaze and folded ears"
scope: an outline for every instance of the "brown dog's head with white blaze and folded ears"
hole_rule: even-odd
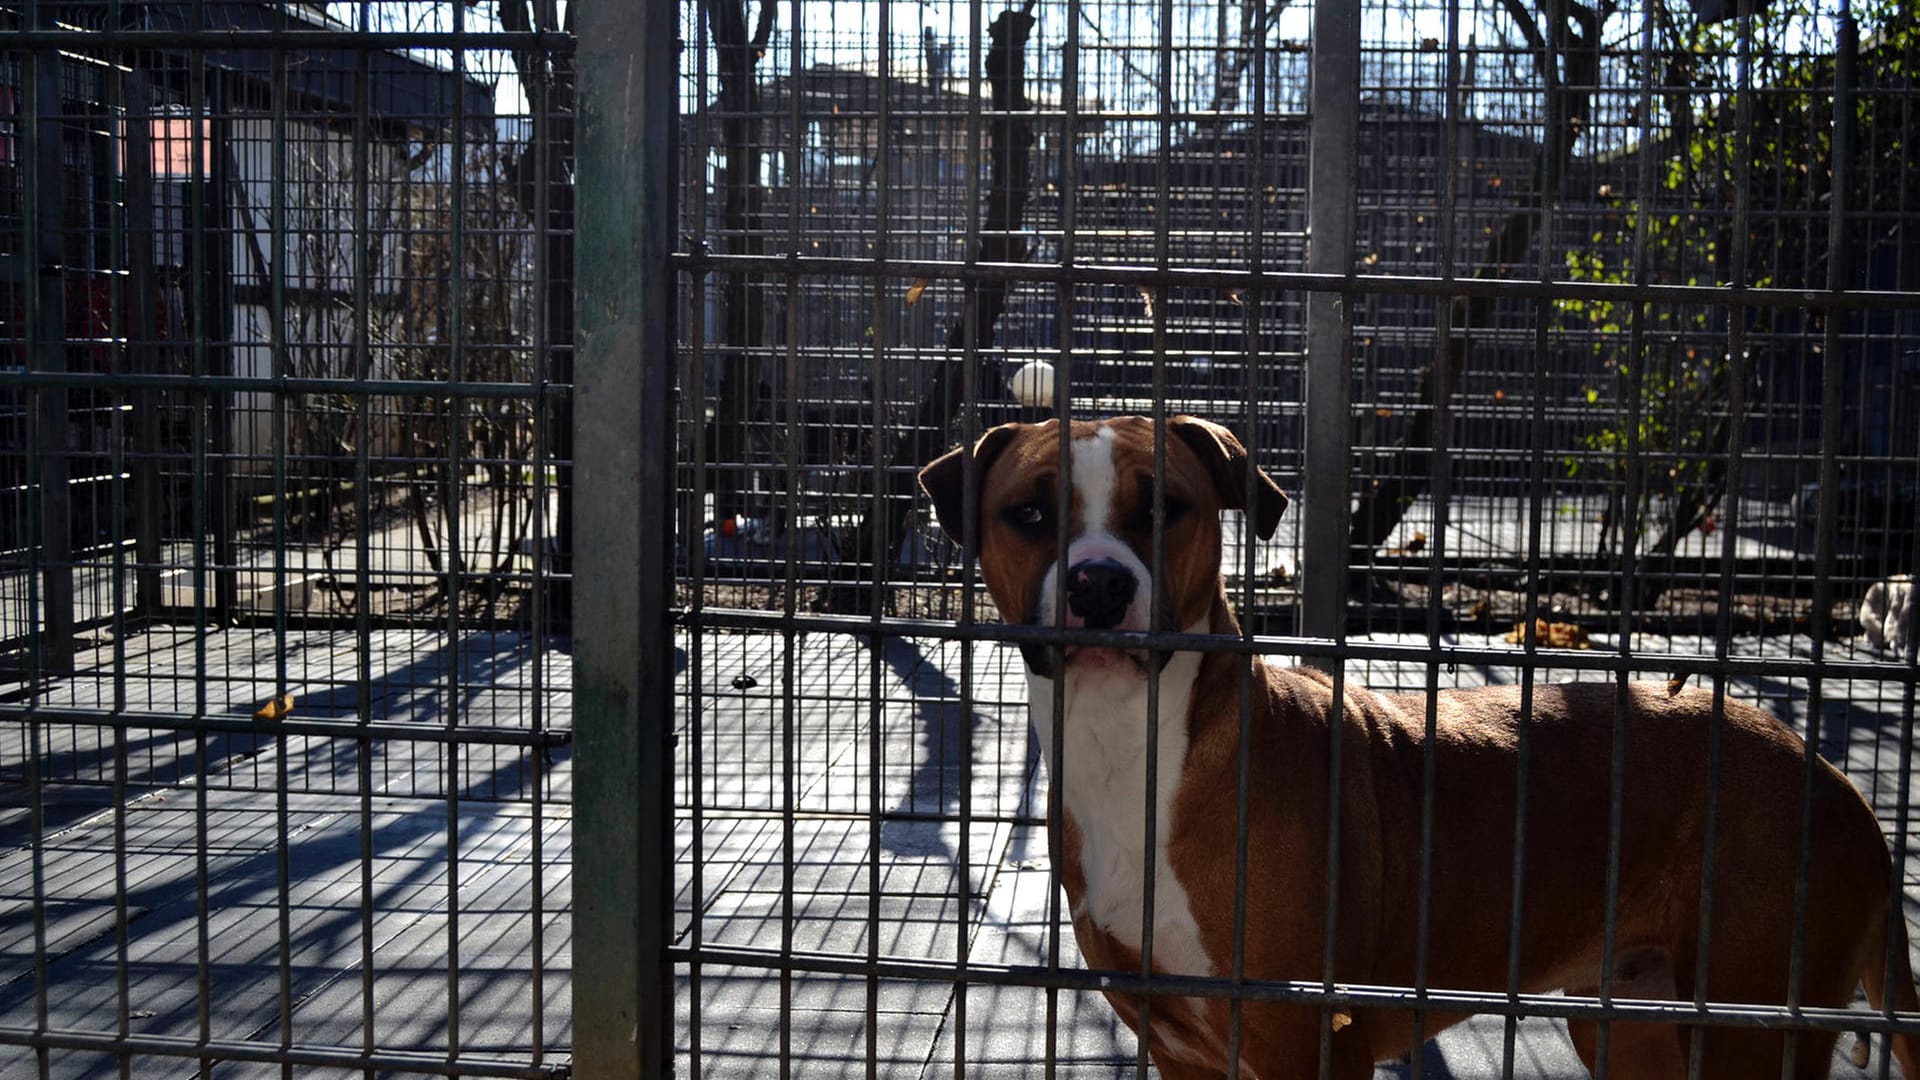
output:
[[[1146,630],[1160,596],[1158,628],[1206,621],[1219,592],[1219,511],[1244,509],[1261,538],[1286,509],[1281,486],[1260,471],[1227,429],[1194,417],[1167,421],[1164,559],[1154,573],[1154,421],[1117,417],[1075,423],[1062,482],[1058,421],[1002,425],[920,471],[941,528],[962,538],[968,519],[966,461],[977,475],[973,523],[987,592],[1008,623],[1056,625],[1066,573],[1068,626]],[[1248,488],[1252,486],[1252,505]],[[1066,552],[1060,515],[1066,513]],[[1023,648],[1046,675],[1044,648]],[[1133,651],[1068,648],[1068,667],[1144,671]],[[1162,655],[1162,661],[1165,657]]]

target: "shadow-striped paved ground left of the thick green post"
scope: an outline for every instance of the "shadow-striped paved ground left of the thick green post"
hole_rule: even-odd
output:
[[[476,634],[459,650],[444,646],[434,634],[374,634],[372,719],[430,728],[449,717],[476,728],[530,723],[534,663],[522,638]],[[113,650],[83,663],[111,673]],[[271,634],[244,630],[140,634],[125,646],[129,678],[81,676],[44,703],[102,705],[119,692],[131,709],[194,711],[200,686],[204,713],[230,721],[278,692],[282,663],[296,717],[357,715],[351,636],[296,638],[282,651]],[[196,682],[202,665],[207,678]],[[541,667],[541,700],[564,707],[564,657]],[[29,740],[42,749],[38,807],[25,782]],[[468,746],[449,759],[434,742],[386,740],[363,755],[355,740],[280,744],[244,732],[209,734],[202,751],[192,734],[144,728],[125,732],[123,751],[129,788],[119,803],[111,732],[60,721],[0,728],[0,1026],[33,1026],[44,978],[50,1026],[113,1032],[125,972],[136,1034],[271,1045],[286,1026],[298,1043],[359,1047],[371,1017],[382,1047],[444,1049],[457,1040],[476,1057],[526,1059],[541,1045],[549,1059],[564,1053],[564,751],[551,765],[505,746]],[[194,782],[202,753],[213,774],[205,790]],[[453,801],[444,798],[449,786]],[[35,809],[46,822],[38,853]],[[545,976],[536,980],[536,970]],[[48,1065],[54,1076],[115,1074],[98,1055],[56,1051]],[[142,1057],[131,1074],[194,1068]],[[36,1072],[31,1055],[0,1047],[0,1078]]]

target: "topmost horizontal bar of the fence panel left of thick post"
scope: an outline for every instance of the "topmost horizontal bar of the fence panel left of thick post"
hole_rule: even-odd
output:
[[[557,31],[236,31],[236,29],[15,29],[8,31],[10,50],[63,48],[73,52],[102,52],[123,48],[194,48],[194,50],[273,50],[273,48],[348,48],[359,52],[397,52],[409,48],[524,48],[557,56],[574,54],[574,35]]]

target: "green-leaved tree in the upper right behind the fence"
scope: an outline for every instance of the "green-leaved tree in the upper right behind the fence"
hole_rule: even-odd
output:
[[[1910,110],[1897,96],[1874,94],[1876,85],[1905,79],[1920,35],[1901,17],[1899,0],[1862,12],[1870,35],[1857,58],[1847,56],[1853,37],[1843,33],[1836,56],[1782,56],[1755,50],[1753,90],[1722,96],[1697,115],[1701,90],[1730,79],[1715,65],[1734,56],[1736,27],[1713,25],[1686,12],[1657,10],[1661,71],[1667,86],[1663,138],[1640,148],[1651,156],[1653,190],[1634,198],[1615,196],[1613,227],[1596,231],[1590,244],[1567,254],[1574,281],[1628,282],[1632,252],[1645,231],[1647,265],[1638,273],[1653,282],[1745,284],[1776,288],[1826,288],[1830,281],[1857,284],[1862,252],[1910,248],[1901,236],[1899,213],[1862,215],[1849,225],[1841,246],[1832,246],[1826,208],[1839,200],[1859,211],[1891,211],[1887,200],[1903,190],[1912,146]],[[1755,19],[1755,40],[1782,40],[1803,29],[1809,12],[1782,6]],[[1839,65],[1847,81],[1860,79],[1864,92],[1841,123],[1834,123],[1834,88]],[[1857,131],[1880,136],[1860,146]],[[1726,208],[1743,194],[1745,234],[1734,234]],[[1891,227],[1872,225],[1876,219]],[[1908,256],[1910,258],[1910,256]],[[1849,259],[1853,265],[1849,265]],[[1672,553],[1693,530],[1716,527],[1726,498],[1728,459],[1736,430],[1736,388],[1759,392],[1757,354],[1728,356],[1724,311],[1672,306],[1567,300],[1559,304],[1567,325],[1597,331],[1594,352],[1613,386],[1590,386],[1592,405],[1609,415],[1586,436],[1586,461],[1569,457],[1569,473],[1597,469],[1609,480],[1599,555],[1638,557],[1636,605],[1653,605],[1672,584]],[[1745,319],[1747,340],[1768,342],[1774,332],[1811,331],[1820,315],[1757,307]],[[1638,319],[1640,350],[1626,332]],[[1634,404],[1620,415],[1615,404]],[[1830,411],[1837,423],[1837,411]],[[1632,450],[1632,454],[1628,454]],[[1638,492],[1634,503],[1626,492]],[[1607,600],[1619,601],[1617,592]]]

